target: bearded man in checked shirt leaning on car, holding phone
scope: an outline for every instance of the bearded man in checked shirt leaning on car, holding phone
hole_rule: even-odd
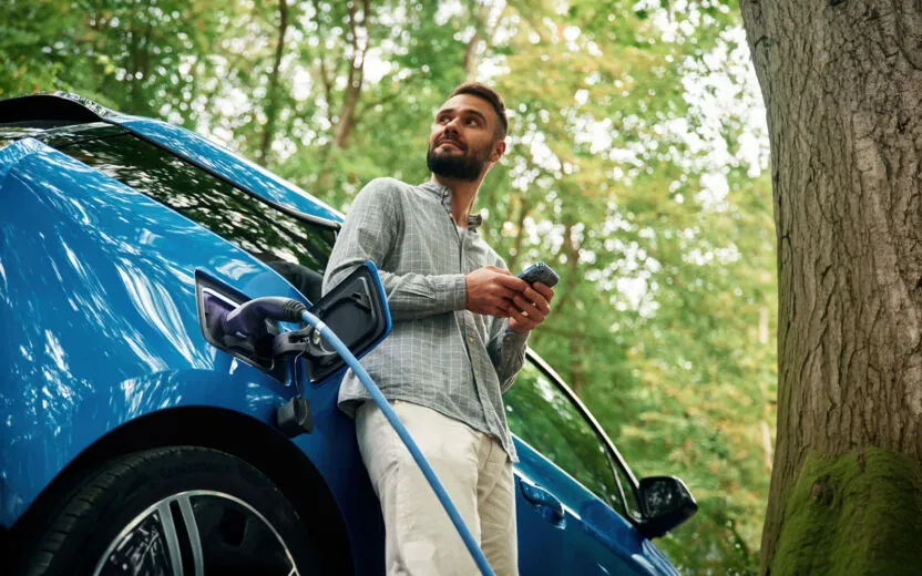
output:
[[[471,215],[483,177],[505,152],[506,130],[499,94],[478,83],[459,86],[429,135],[431,179],[412,186],[379,178],[362,188],[324,279],[326,292],[366,260],[378,266],[393,332],[363,364],[499,575],[518,574],[516,456],[502,392],[554,296],[506,271],[478,234],[480,216]],[[356,416],[381,501],[388,574],[475,574],[416,462],[351,373],[339,405]]]

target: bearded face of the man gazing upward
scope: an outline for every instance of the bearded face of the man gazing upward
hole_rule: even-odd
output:
[[[471,94],[449,99],[436,113],[426,163],[437,176],[474,182],[502,156],[500,119],[493,106]]]

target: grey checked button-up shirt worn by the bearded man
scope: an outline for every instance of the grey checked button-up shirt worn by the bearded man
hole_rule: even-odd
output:
[[[378,266],[393,331],[362,359],[390,400],[413,402],[494,436],[518,461],[502,393],[525,357],[527,332],[509,330],[504,318],[464,309],[464,275],[505,263],[477,232],[451,216],[451,191],[436,183],[411,186],[392,178],[370,182],[356,196],[336,240],[324,294],[356,266]],[[349,371],[339,407],[355,418],[369,399]]]

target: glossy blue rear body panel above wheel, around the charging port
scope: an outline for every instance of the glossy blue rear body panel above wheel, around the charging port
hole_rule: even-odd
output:
[[[274,426],[294,387],[205,341],[195,271],[254,298],[304,297],[223,238],[59,151],[21,141],[2,153],[0,524],[13,525],[100,439],[156,411],[213,407]],[[349,524],[376,532],[337,383],[303,390],[315,430],[293,442]]]

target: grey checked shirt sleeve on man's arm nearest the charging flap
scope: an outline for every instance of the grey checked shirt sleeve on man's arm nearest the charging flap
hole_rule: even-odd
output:
[[[371,260],[378,267],[395,320],[462,310],[468,300],[464,275],[388,271],[388,257],[401,245],[403,229],[398,194],[399,189],[387,178],[378,178],[356,196],[324,275],[324,294],[357,266]]]

